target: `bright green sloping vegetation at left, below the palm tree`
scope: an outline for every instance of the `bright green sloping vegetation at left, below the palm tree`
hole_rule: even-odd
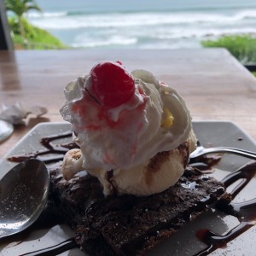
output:
[[[25,18],[22,18],[26,43],[20,35],[18,20],[9,18],[9,26],[12,31],[15,47],[18,49],[66,49],[67,46],[49,32],[32,26]]]

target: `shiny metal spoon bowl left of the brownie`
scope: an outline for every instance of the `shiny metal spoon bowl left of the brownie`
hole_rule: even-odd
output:
[[[48,192],[49,172],[42,161],[26,160],[12,168],[0,181],[0,238],[34,223]]]

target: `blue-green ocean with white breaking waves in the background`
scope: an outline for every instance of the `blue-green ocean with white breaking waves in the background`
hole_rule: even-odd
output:
[[[256,0],[36,0],[33,25],[75,48],[201,48],[201,41],[256,37]]]

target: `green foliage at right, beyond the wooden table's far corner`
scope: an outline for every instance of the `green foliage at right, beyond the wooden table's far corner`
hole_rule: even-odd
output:
[[[224,47],[243,64],[256,62],[256,38],[250,35],[224,36],[202,41],[201,44],[205,47]]]

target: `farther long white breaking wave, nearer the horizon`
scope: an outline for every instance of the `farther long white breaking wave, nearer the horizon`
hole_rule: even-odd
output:
[[[173,26],[191,24],[228,24],[256,19],[256,9],[235,14],[213,13],[126,13],[104,15],[67,15],[65,12],[30,15],[31,22],[44,29],[106,28],[134,26]]]

